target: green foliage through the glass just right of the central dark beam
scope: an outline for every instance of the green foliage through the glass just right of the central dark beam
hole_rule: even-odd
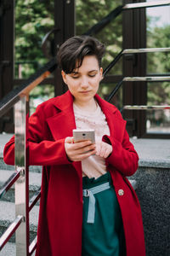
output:
[[[77,35],[87,32],[99,20],[108,15],[121,4],[119,0],[77,0]],[[106,54],[103,67],[106,67],[122,49],[122,15],[116,17],[111,23],[95,35],[106,45]],[[122,62],[117,63],[111,73],[122,73]]]

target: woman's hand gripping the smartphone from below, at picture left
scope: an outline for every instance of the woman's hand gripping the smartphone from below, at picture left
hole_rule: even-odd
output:
[[[90,155],[95,154],[95,144],[91,141],[74,143],[73,137],[65,138],[65,152],[71,161],[82,161]]]

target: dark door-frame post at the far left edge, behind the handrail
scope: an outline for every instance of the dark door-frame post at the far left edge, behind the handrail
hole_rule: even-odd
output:
[[[14,0],[0,2],[0,99],[13,89],[14,79]],[[0,120],[0,132],[13,132],[13,112]]]

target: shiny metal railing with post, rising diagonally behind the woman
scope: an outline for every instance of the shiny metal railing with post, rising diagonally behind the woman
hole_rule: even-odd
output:
[[[93,26],[85,34],[94,34],[99,32],[105,27],[112,19],[116,18],[122,10],[126,9],[139,9],[148,8],[155,6],[162,6],[170,4],[169,1],[161,2],[150,2],[150,3],[129,3],[125,6],[119,6],[116,10],[113,10],[110,15],[107,15],[98,25]],[[144,53],[144,52],[155,52],[155,51],[169,51],[170,48],[164,49],[124,49],[116,56],[115,60],[105,69],[104,77],[112,67],[115,66],[116,62],[126,54]],[[15,108],[15,155],[14,164],[15,172],[8,178],[8,181],[3,184],[3,188],[0,190],[0,197],[15,184],[15,219],[12,224],[9,225],[8,229],[0,237],[0,251],[4,245],[8,242],[8,239],[16,234],[16,255],[17,256],[28,256],[34,252],[37,247],[37,237],[31,242],[29,239],[29,212],[35,206],[41,196],[40,190],[32,196],[29,201],[29,177],[28,177],[28,159],[27,159],[27,120],[28,120],[28,107],[29,107],[29,93],[30,91],[40,84],[43,79],[47,78],[50,73],[57,67],[55,59],[49,61],[47,65],[42,67],[35,75],[31,76],[30,79],[26,80],[25,84],[22,84],[19,88],[11,91],[8,96],[5,96],[0,102],[0,117],[4,113],[8,112],[8,109]],[[116,88],[111,92],[108,101],[111,100],[112,96],[116,94],[116,91],[121,87],[123,82],[127,81],[170,81],[170,77],[144,77],[144,78],[124,78],[120,81]],[[170,106],[124,106],[125,109],[149,109],[149,108],[162,108],[169,109]]]

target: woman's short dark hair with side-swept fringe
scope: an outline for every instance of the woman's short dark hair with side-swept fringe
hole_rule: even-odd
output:
[[[82,66],[83,58],[87,55],[95,55],[100,67],[104,53],[105,45],[100,43],[96,38],[75,36],[67,39],[64,44],[61,44],[57,54],[57,61],[59,67],[65,73],[72,73],[75,68]]]

